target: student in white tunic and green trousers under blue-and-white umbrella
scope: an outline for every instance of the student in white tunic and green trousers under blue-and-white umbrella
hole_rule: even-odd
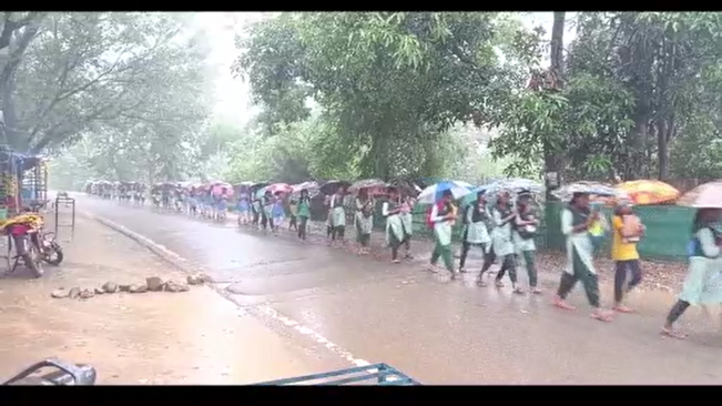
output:
[[[434,223],[434,240],[436,246],[431,254],[431,271],[436,271],[436,264],[439,257],[444,260],[446,270],[451,274],[451,280],[456,280],[454,271],[454,257],[451,255],[451,232],[456,221],[456,206],[454,205],[454,194],[451,191],[444,191],[441,201],[434,204],[429,221]]]

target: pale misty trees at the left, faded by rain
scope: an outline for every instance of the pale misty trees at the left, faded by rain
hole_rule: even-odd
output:
[[[197,161],[207,47],[186,16],[4,12],[0,27],[4,143],[71,148],[69,162],[114,179],[179,177]]]

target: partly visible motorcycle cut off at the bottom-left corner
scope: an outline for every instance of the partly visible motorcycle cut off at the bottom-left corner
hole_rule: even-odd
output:
[[[45,368],[54,371],[41,374]],[[48,358],[22,371],[3,382],[3,386],[92,386],[95,385],[95,368],[83,364],[69,364],[58,358]]]

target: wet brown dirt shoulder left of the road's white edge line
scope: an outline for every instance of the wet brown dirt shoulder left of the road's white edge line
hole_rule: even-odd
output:
[[[287,338],[207,286],[189,292],[52,298],[64,287],[186,275],[132,240],[79,216],[59,267],[0,278],[0,377],[45,357],[94,366],[99,384],[246,384],[323,371]]]

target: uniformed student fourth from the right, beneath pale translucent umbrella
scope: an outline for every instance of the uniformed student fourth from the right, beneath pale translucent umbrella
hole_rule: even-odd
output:
[[[529,290],[535,294],[541,293],[541,290],[537,286],[537,267],[535,263],[537,246],[533,242],[538,226],[539,220],[537,220],[531,207],[531,194],[520,193],[517,199],[517,217],[513,222],[511,236],[517,257],[523,258],[527,275],[529,276]]]

